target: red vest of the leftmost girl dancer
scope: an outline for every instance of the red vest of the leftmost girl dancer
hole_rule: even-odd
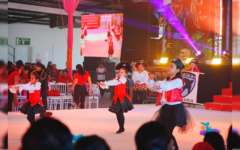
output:
[[[42,100],[40,99],[40,97],[41,97],[40,95],[41,95],[41,89],[40,89],[40,90],[34,90],[33,93],[30,93],[30,92],[29,92],[29,99],[26,100],[26,101],[23,103],[23,105],[27,104],[27,103],[30,101],[31,106],[34,106],[34,105],[36,105],[37,103],[38,103],[39,105],[41,105],[41,106],[44,106]]]

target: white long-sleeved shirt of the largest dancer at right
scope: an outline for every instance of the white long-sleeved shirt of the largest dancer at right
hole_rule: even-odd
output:
[[[183,87],[183,82],[182,79],[174,79],[171,81],[167,81],[167,79],[163,80],[163,81],[154,81],[154,80],[150,80],[148,82],[148,88],[151,87],[156,87],[152,89],[152,91],[156,91],[159,93],[163,93],[162,98],[161,98],[161,104],[168,104],[168,105],[177,105],[177,104],[181,104],[181,102],[167,102],[165,99],[165,91],[171,91],[173,89],[181,89]]]

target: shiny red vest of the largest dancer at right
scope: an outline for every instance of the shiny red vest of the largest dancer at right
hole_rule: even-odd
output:
[[[183,82],[183,85],[184,85],[184,82]],[[165,91],[165,100],[170,103],[171,102],[182,102],[182,100],[183,100],[182,91],[183,91],[183,87],[181,89],[175,88],[170,91]],[[161,105],[162,96],[163,96],[163,93],[158,93],[156,106]]]

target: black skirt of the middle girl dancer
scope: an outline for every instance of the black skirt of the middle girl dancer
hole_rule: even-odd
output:
[[[112,113],[123,113],[123,112],[126,113],[132,109],[133,109],[133,104],[127,97],[124,97],[122,103],[118,99],[117,103],[115,104],[115,101],[113,100],[111,106],[109,106],[109,111]]]

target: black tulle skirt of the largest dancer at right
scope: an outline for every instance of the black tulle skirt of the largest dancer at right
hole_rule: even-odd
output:
[[[167,127],[178,126],[179,133],[192,131],[195,125],[192,117],[182,103],[177,105],[163,105],[154,114],[153,120],[159,121]]]

